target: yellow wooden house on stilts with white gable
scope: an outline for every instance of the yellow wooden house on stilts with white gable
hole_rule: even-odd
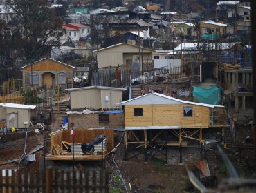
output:
[[[167,146],[179,146],[182,162],[182,147],[187,145],[184,139],[199,141],[202,150],[203,129],[223,127],[224,107],[221,105],[183,101],[154,92],[121,104],[125,106],[125,159],[138,156],[132,152],[133,156],[128,157],[128,153],[143,148],[139,154],[144,154],[145,161],[152,154],[166,150],[161,154],[167,162]],[[178,140],[168,141],[168,133]]]

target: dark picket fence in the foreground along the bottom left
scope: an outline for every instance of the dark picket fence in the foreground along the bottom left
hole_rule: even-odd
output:
[[[47,168],[0,173],[0,192],[109,192],[109,171],[104,168],[75,172]]]

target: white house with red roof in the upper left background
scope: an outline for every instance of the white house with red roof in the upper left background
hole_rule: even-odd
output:
[[[64,32],[61,39],[71,39],[72,41],[79,41],[80,38],[85,38],[90,33],[89,26],[80,23],[68,23],[62,26]]]

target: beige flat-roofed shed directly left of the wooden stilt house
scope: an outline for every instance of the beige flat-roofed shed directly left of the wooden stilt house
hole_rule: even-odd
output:
[[[77,108],[120,108],[122,92],[126,88],[104,86],[89,86],[82,88],[69,88],[71,109]]]

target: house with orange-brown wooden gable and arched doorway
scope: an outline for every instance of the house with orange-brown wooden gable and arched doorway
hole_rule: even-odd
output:
[[[51,58],[45,58],[20,69],[23,75],[23,87],[39,88],[71,84],[75,67]]]

